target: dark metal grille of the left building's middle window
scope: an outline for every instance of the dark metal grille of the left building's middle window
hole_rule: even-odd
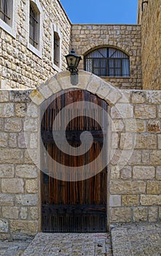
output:
[[[34,7],[32,4],[30,4],[30,43],[35,48],[37,48],[38,42],[37,42],[37,29],[38,29],[38,20],[36,19],[36,11],[34,10]]]

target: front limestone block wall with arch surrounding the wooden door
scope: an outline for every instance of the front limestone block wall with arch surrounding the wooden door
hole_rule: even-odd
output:
[[[39,106],[86,89],[109,104],[108,222],[161,219],[161,92],[119,90],[88,72],[60,72],[36,90],[0,91],[0,238],[41,230]]]

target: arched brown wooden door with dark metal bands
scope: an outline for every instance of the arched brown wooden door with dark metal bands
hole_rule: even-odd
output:
[[[83,131],[90,131],[93,135],[93,145],[86,154],[71,156],[62,153],[52,137],[53,122],[55,116],[66,105],[72,102],[82,102],[82,114],[78,109],[70,109],[66,112],[66,118],[71,111],[77,111],[78,116],[73,118],[66,127],[66,139],[76,148],[80,146],[80,135]],[[97,158],[106,145],[106,118],[92,107],[90,112],[94,118],[90,118],[84,108],[83,102],[93,102],[104,110],[107,104],[102,99],[88,91],[72,89],[64,91],[58,97],[46,101],[42,106],[41,134],[44,147],[50,157],[62,165],[76,167],[87,165]],[[77,103],[76,103],[77,104]],[[80,106],[79,106],[80,108]],[[96,118],[97,116],[97,118]],[[97,121],[95,121],[97,120]],[[101,125],[98,124],[101,121]],[[60,118],[58,126],[64,121]],[[102,129],[103,127],[103,129]],[[57,132],[60,144],[61,132]],[[106,200],[107,200],[107,173],[106,167],[90,178],[77,181],[72,180],[72,171],[68,174],[68,181],[53,178],[52,173],[57,171],[57,164],[53,164],[42,150],[42,231],[43,232],[105,232],[107,224]],[[102,159],[103,161],[103,159]],[[97,164],[96,164],[97,165]],[[92,173],[93,163],[87,169]],[[78,175],[81,175],[80,173]]]

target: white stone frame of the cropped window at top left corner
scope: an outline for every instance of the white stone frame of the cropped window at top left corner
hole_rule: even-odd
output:
[[[1,1],[1,0],[0,0]],[[0,27],[4,31],[7,32],[7,34],[10,34],[13,38],[16,37],[16,16],[17,16],[17,0],[10,0],[8,2],[8,13],[9,16],[8,22],[0,18]]]

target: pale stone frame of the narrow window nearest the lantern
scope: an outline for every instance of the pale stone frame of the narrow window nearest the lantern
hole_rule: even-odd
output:
[[[57,41],[56,43],[58,44],[58,48],[57,48],[57,52],[55,49],[55,37],[57,37]],[[56,64],[55,62],[55,52],[56,52],[56,56],[57,56],[57,62],[58,64]],[[60,29],[59,26],[57,24],[52,24],[52,67],[53,69],[55,69],[56,71],[60,72],[61,71],[61,33],[60,33]]]

